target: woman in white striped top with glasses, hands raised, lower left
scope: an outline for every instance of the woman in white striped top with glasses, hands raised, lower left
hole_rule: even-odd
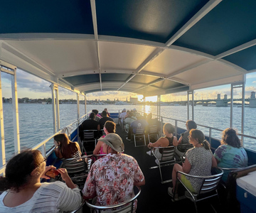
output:
[[[69,212],[80,207],[80,190],[68,176],[67,170],[58,169],[60,182],[40,182],[45,173],[55,169],[46,167],[46,158],[38,150],[22,151],[9,160],[6,177],[0,179],[0,212]]]

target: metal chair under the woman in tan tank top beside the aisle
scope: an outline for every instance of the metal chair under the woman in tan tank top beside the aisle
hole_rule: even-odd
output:
[[[161,155],[161,160],[156,158],[156,154],[154,153],[154,148],[159,148],[159,149],[163,150],[162,155]],[[171,182],[172,180],[163,180],[162,173],[161,173],[161,167],[168,166],[168,165],[174,165],[174,163],[176,163],[176,159],[175,159],[175,156],[174,156],[176,146],[154,147],[154,148],[151,148],[151,153],[156,158],[156,160],[158,162],[158,165],[153,166],[149,169],[159,168],[162,184],[164,184],[166,182]]]

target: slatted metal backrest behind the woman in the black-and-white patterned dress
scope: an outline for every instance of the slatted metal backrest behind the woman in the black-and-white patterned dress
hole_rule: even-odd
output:
[[[214,173],[215,175],[202,177],[203,182],[201,185],[201,189],[198,192],[198,195],[201,193],[211,192],[217,189],[218,185],[220,184],[220,180],[223,176],[223,170],[219,168],[214,168]]]

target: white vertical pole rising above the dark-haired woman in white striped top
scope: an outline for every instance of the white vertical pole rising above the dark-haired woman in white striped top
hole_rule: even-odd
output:
[[[18,94],[17,94],[17,82],[16,82],[16,69],[14,75],[11,76],[11,97],[13,106],[13,119],[14,119],[14,151],[20,153],[21,144],[19,137],[19,126],[18,126]]]

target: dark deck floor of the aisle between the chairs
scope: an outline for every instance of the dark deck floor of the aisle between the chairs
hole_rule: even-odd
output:
[[[137,160],[145,176],[146,185],[142,186],[142,192],[137,199],[137,212],[196,212],[193,202],[187,198],[176,202],[171,201],[167,189],[168,187],[172,187],[172,182],[161,184],[159,168],[149,169],[149,167],[156,165],[154,156],[146,154],[149,148],[146,146],[134,147],[133,141],[127,141],[125,139],[126,134],[121,130],[120,126],[117,126],[117,134],[123,139],[124,153],[132,155]],[[147,140],[146,143],[148,143]],[[164,180],[171,179],[172,168],[173,165],[162,168]],[[182,187],[179,188],[180,190],[182,190]],[[212,197],[206,201],[198,202],[198,212],[206,211],[209,213],[221,212],[218,197]]]

